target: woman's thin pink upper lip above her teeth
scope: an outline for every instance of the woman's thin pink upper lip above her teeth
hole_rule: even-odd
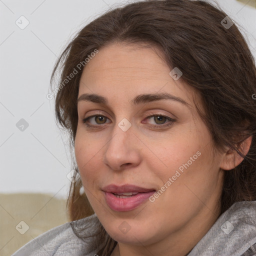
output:
[[[110,184],[110,185],[104,186],[102,190],[108,193],[126,193],[126,192],[145,193],[149,191],[155,191],[155,189],[153,188],[145,188],[145,187],[140,187],[132,184],[124,184],[124,185]]]

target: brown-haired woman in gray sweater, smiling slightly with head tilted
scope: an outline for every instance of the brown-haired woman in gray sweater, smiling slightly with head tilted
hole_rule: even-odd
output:
[[[58,67],[72,221],[13,256],[256,255],[256,69],[222,10],[127,4],[75,36],[52,79]]]

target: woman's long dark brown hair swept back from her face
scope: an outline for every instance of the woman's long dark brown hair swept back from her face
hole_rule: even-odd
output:
[[[224,171],[221,213],[234,202],[256,199],[256,100],[252,98],[256,92],[255,62],[237,26],[222,25],[226,16],[219,7],[201,0],[144,0],[109,10],[78,32],[51,76],[52,83],[60,68],[63,81],[87,55],[113,41],[143,42],[160,48],[170,70],[178,67],[182,79],[200,93],[205,114],[198,107],[197,111],[216,148],[229,146],[244,158],[234,169]],[[77,71],[58,90],[55,100],[56,119],[69,131],[71,147],[82,68]],[[245,156],[239,146],[250,135],[252,143]],[[77,166],[74,168],[78,171]],[[80,179],[70,186],[67,206],[71,220],[93,213],[85,193],[79,193],[81,187]],[[81,230],[73,228],[77,236],[83,237]],[[92,247],[102,247],[99,255],[109,255],[116,245],[99,221],[93,237]]]

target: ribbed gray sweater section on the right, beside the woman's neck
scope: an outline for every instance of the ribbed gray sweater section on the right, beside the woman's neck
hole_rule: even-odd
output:
[[[234,203],[190,251],[189,256],[245,256],[256,243],[256,201]]]

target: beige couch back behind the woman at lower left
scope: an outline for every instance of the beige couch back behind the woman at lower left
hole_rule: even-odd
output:
[[[10,256],[39,234],[68,222],[65,204],[50,194],[0,194],[0,255]]]

